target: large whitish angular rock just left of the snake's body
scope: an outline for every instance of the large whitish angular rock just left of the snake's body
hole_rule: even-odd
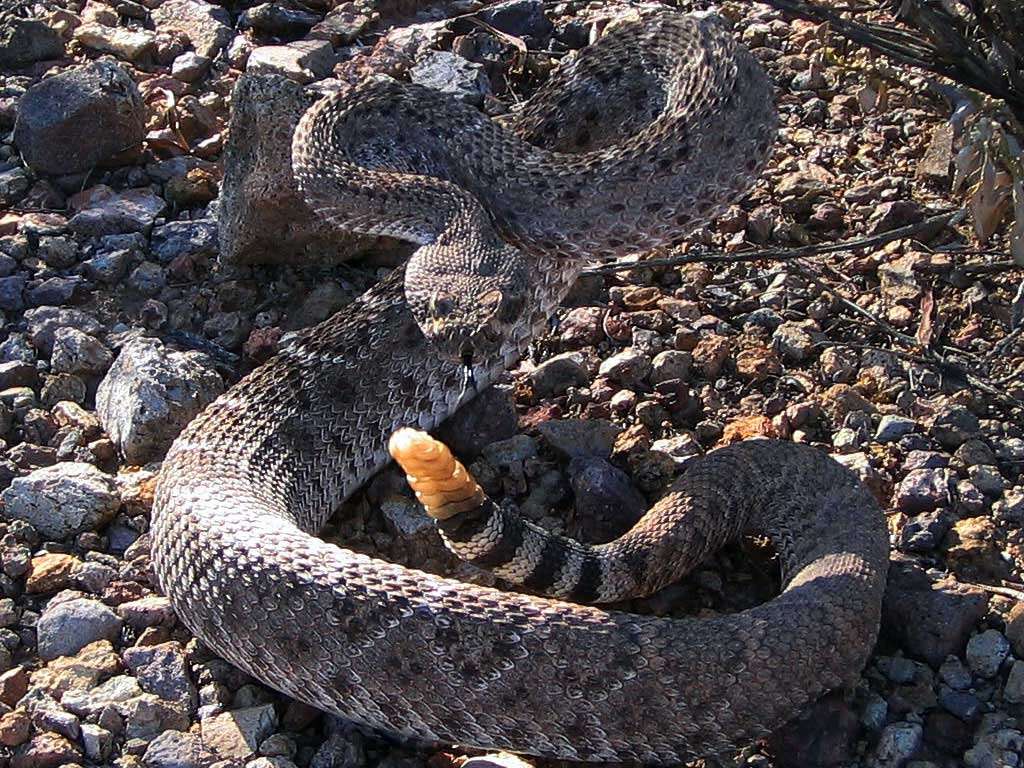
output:
[[[223,382],[195,352],[156,340],[126,344],[96,390],[96,413],[124,457],[144,464],[223,391]]]

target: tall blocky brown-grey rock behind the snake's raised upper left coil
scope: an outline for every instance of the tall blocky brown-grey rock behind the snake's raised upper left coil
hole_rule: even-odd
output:
[[[292,134],[319,94],[280,75],[239,78],[220,187],[220,258],[229,264],[336,264],[369,252],[411,248],[340,232],[317,219],[292,173]]]

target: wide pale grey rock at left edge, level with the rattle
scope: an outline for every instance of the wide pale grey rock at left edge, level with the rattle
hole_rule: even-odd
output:
[[[61,462],[16,477],[0,494],[3,516],[61,541],[110,521],[121,499],[114,478],[91,464]]]

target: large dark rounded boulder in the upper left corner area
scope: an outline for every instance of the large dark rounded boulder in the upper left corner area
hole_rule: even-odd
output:
[[[112,61],[92,61],[26,91],[14,143],[35,171],[78,173],[137,147],[144,119],[142,98],[128,73]]]

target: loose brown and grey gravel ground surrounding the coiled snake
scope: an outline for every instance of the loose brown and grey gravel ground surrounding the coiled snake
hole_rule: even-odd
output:
[[[0,765],[466,760],[325,717],[191,638],[148,571],[155,473],[181,427],[284,334],[408,252],[339,245],[298,202],[283,161],[305,104],[383,72],[498,116],[623,10],[0,9]],[[588,274],[535,359],[446,435],[489,492],[589,541],[628,527],[716,445],[767,434],[829,451],[887,510],[882,636],[854,689],[736,765],[1018,766],[1024,294],[1006,226],[980,249],[970,220],[935,219],[963,205],[950,159],[967,134],[922,77],[766,6],[722,11],[777,85],[779,143],[742,205],[654,256],[726,260]],[[910,228],[886,234],[898,227]],[[770,253],[870,237],[802,259]],[[326,536],[487,581],[443,551],[394,471]],[[777,589],[776,571],[770,552],[741,543],[624,607],[744,607]]]

